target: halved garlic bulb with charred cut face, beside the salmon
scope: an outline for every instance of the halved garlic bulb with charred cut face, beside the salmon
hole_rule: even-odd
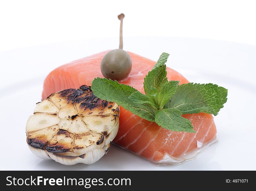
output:
[[[40,158],[64,165],[92,164],[109,150],[118,127],[119,106],[82,85],[37,103],[26,124],[26,138]]]

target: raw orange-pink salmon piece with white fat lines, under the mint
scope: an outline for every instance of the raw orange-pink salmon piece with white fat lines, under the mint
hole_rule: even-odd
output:
[[[103,78],[100,63],[106,52],[108,51],[75,60],[53,70],[45,79],[42,99],[60,90],[90,85],[95,77]],[[156,62],[131,52],[129,55],[132,59],[131,73],[119,83],[133,86],[144,93],[144,78]],[[180,81],[180,84],[189,82],[168,67],[167,77],[168,80]],[[216,141],[216,126],[212,115],[197,113],[183,117],[192,122],[196,133],[163,129],[120,107],[120,126],[114,143],[154,163],[180,163],[193,158],[196,153]]]

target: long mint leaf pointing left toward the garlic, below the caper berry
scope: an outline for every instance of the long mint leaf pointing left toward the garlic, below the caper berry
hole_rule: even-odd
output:
[[[116,80],[112,81],[111,79],[108,80],[98,77],[92,81],[91,89],[93,94],[100,99],[116,102],[131,113],[148,121],[154,121],[156,112],[154,108],[150,105],[134,103],[128,98],[132,93],[138,91],[135,88],[125,84],[119,84]]]

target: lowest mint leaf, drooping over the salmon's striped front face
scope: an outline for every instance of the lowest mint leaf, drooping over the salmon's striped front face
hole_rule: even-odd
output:
[[[157,110],[155,122],[171,131],[184,131],[195,133],[191,121],[181,116],[182,113],[175,108]]]

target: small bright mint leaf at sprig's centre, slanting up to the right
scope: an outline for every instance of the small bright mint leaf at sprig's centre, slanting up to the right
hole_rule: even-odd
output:
[[[169,81],[162,84],[160,92],[157,95],[157,99],[159,100],[159,108],[163,108],[163,106],[171,99],[173,94],[176,92],[178,85],[179,81]]]

